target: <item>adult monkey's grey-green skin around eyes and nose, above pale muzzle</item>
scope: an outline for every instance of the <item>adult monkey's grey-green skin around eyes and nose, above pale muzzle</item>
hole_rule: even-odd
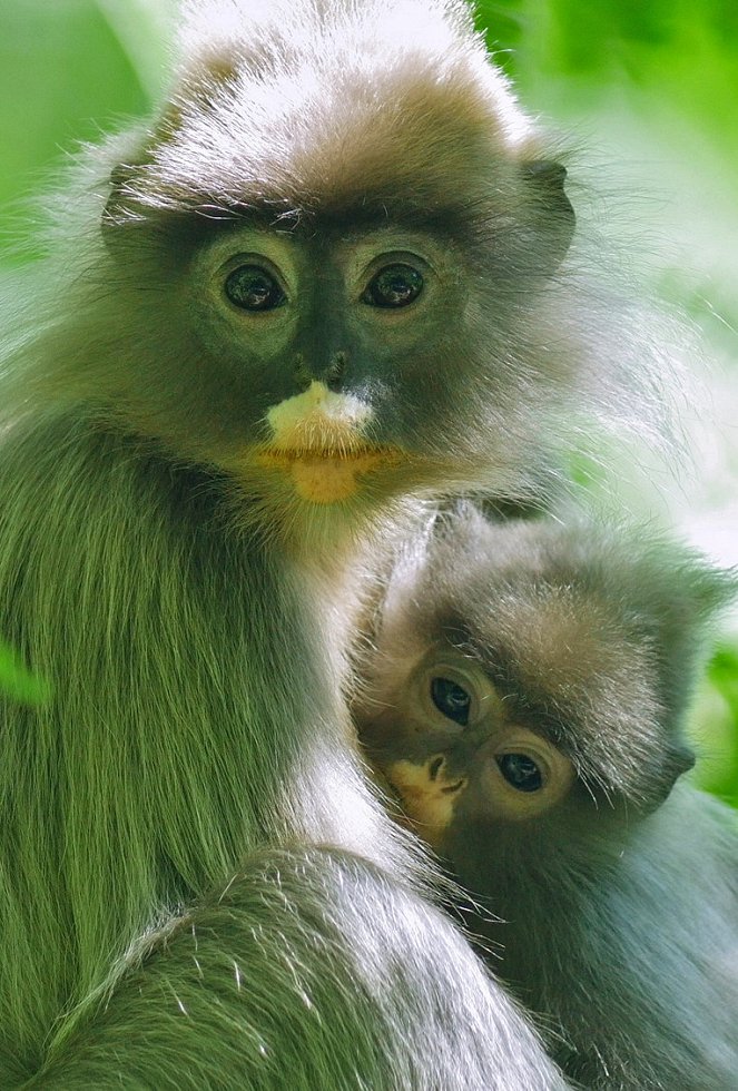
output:
[[[191,272],[209,350],[258,368],[269,404],[311,381],[353,394],[371,389],[393,360],[417,361],[450,321],[463,321],[471,301],[459,257],[432,235],[305,235],[236,227],[199,253]]]

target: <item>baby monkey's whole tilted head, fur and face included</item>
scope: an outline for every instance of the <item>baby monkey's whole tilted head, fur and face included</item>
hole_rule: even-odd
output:
[[[673,543],[469,509],[387,593],[356,701],[370,760],[452,859],[575,853],[602,824],[620,851],[692,765],[695,661],[730,591]]]

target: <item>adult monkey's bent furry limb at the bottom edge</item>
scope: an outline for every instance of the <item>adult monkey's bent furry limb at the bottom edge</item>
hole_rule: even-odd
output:
[[[565,1087],[442,914],[345,853],[264,852],[131,962],[28,1088]]]

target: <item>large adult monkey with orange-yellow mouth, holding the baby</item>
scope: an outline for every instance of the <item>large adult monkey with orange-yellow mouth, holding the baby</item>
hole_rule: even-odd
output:
[[[360,543],[592,385],[562,184],[459,0],[193,3],[81,161],[2,370],[3,1087],[563,1085],[341,694]]]

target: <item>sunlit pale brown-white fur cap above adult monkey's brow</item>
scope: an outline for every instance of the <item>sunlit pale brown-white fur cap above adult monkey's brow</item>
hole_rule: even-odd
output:
[[[538,154],[462,0],[190,0],[179,56],[144,204],[432,210]]]

